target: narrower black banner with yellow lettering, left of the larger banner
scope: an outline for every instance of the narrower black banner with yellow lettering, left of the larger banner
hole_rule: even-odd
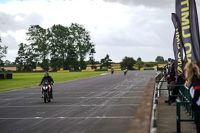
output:
[[[173,50],[174,50],[174,57],[175,57],[175,72],[177,76],[184,77],[183,42],[181,39],[181,25],[175,13],[172,13],[172,22],[175,28],[175,34],[174,34],[174,40],[173,40]]]

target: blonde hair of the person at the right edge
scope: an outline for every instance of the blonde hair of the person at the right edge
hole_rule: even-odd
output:
[[[187,84],[190,84],[192,81],[192,77],[194,75],[197,75],[197,77],[200,77],[199,67],[195,62],[187,63],[184,67],[185,70],[185,79],[187,81]]]

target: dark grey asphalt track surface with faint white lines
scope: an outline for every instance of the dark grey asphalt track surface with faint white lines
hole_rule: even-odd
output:
[[[128,71],[0,93],[0,133],[126,133],[156,71]]]

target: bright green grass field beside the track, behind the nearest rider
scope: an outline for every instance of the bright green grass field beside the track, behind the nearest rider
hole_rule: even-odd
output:
[[[52,72],[49,73],[54,82],[63,82],[75,79],[82,79],[108,73],[108,71],[99,72]],[[0,80],[0,92],[20,88],[33,87],[40,84],[44,73],[13,73],[13,79]]]

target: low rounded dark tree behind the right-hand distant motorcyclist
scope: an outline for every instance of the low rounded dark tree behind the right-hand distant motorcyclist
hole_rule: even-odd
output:
[[[133,70],[133,66],[136,63],[136,61],[132,57],[124,57],[121,61],[121,68],[127,67],[129,70]]]

